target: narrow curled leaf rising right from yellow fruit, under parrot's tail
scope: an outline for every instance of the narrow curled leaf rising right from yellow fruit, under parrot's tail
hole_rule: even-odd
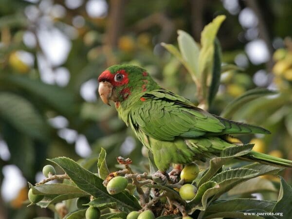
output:
[[[232,146],[227,147],[226,149],[221,151],[220,156],[216,157],[210,160],[210,165],[208,171],[201,177],[198,186],[200,186],[202,183],[207,182],[209,179],[211,179],[217,171],[229,160],[245,155],[251,151],[253,148],[253,145],[242,145],[242,146]]]

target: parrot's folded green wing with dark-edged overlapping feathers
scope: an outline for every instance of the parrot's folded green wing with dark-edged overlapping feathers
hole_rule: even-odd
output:
[[[220,133],[225,126],[218,118],[195,107],[189,100],[164,89],[143,96],[130,113],[133,127],[162,141],[175,137],[194,138],[207,132]]]

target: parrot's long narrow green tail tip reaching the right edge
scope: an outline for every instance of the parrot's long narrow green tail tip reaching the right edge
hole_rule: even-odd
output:
[[[255,161],[261,164],[269,164],[275,166],[292,167],[292,161],[283,158],[277,158],[268,154],[251,151],[240,157],[242,160]]]

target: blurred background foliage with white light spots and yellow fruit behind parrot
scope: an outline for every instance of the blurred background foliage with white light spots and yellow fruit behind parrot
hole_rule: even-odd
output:
[[[110,168],[122,155],[144,171],[141,144],[99,100],[96,78],[128,62],[195,102],[190,75],[160,43],[177,45],[179,29],[200,42],[220,14],[227,17],[218,33],[222,61],[233,67],[222,73],[210,111],[220,114],[256,87],[278,90],[229,116],[272,132],[244,142],[292,159],[292,1],[0,0],[0,219],[51,216],[22,204],[46,158],[94,161],[104,147]],[[291,183],[291,171],[283,174]]]

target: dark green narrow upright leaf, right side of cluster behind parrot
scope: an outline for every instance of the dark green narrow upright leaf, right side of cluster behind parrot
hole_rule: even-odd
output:
[[[216,38],[214,41],[214,58],[213,58],[213,71],[212,71],[212,81],[209,88],[208,94],[208,104],[212,105],[212,102],[218,92],[220,85],[220,74],[221,74],[221,47],[220,42]]]

